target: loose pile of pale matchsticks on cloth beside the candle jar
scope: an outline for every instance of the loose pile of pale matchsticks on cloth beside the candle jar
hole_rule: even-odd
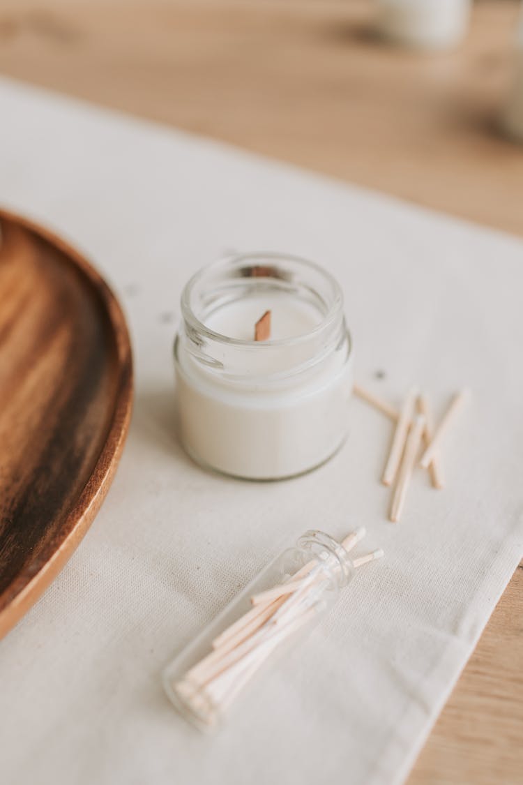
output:
[[[397,411],[387,401],[373,395],[372,392],[359,385],[354,385],[354,393],[382,411],[383,414],[387,414],[387,417],[396,423],[382,482],[384,485],[396,483],[389,517],[393,523],[397,523],[405,505],[412,471],[423,442],[425,449],[419,460],[419,465],[430,471],[430,479],[434,487],[443,487],[441,443],[459,408],[467,400],[469,392],[462,390],[453,396],[438,427],[434,427],[434,419],[427,396],[421,394],[416,387],[412,387],[407,393],[401,411]]]

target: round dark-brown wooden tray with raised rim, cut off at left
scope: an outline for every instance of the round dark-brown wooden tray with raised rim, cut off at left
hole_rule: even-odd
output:
[[[85,259],[0,210],[0,636],[85,535],[129,427],[118,301]]]

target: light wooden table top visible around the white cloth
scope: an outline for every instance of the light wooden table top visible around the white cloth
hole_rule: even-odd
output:
[[[0,0],[0,72],[523,235],[496,127],[517,12],[477,2],[423,55],[372,38],[369,0]],[[410,785],[523,783],[522,663],[520,566]]]

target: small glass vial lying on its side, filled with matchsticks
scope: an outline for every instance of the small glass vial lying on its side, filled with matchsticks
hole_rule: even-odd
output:
[[[364,534],[355,531],[340,544],[307,531],[183,649],[163,674],[165,692],[183,717],[201,730],[220,725],[252,677],[332,608],[358,564],[349,550]]]

